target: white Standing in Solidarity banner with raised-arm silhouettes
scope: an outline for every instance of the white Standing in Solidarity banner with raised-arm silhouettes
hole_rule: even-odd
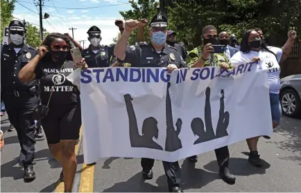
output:
[[[266,70],[89,68],[80,77],[85,163],[176,161],[273,133]]]

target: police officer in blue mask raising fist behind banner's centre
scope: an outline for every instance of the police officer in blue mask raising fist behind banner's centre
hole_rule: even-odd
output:
[[[123,66],[131,67],[166,67],[169,72],[185,67],[179,51],[166,45],[168,25],[166,17],[157,14],[150,21],[150,44],[140,44],[139,46],[128,46],[128,38],[133,30],[139,27],[139,21],[128,20],[123,34],[117,42],[114,55],[121,61]],[[155,160],[141,158],[142,175],[145,179],[153,178],[152,167]],[[169,163],[163,161],[169,192],[182,192],[180,188],[180,166],[178,162]]]

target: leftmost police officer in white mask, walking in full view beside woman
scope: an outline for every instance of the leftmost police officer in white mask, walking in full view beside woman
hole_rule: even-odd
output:
[[[24,44],[26,26],[12,20],[8,26],[11,44],[1,45],[1,91],[10,122],[15,126],[21,153],[19,164],[24,166],[24,179],[35,178],[33,158],[35,153],[35,120],[31,114],[37,107],[37,81],[22,84],[18,74],[34,56],[36,50]]]

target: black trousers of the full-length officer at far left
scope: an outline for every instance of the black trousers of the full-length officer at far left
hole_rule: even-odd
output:
[[[30,95],[4,94],[3,102],[10,123],[15,127],[21,147],[20,165],[31,165],[35,155],[35,120],[31,118],[33,109],[37,107],[37,97]]]

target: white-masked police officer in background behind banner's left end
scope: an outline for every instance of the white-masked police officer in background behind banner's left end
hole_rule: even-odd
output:
[[[96,26],[89,28],[87,34],[90,45],[82,51],[87,65],[89,68],[109,67],[115,44],[101,46],[101,30]]]

